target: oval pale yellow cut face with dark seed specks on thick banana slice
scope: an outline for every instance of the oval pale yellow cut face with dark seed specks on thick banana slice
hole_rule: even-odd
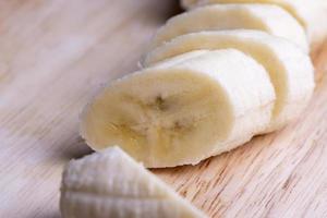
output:
[[[165,93],[167,88],[170,93]],[[208,153],[198,141],[213,145],[214,140],[222,140],[231,122],[231,112],[225,108],[228,104],[219,93],[208,78],[190,76],[187,72],[140,74],[106,88],[89,106],[84,132],[92,132],[88,142],[95,149],[126,146],[133,157],[144,162],[154,162],[152,159],[162,155],[169,161]],[[219,121],[223,129],[215,126]],[[211,138],[213,134],[217,138]],[[181,142],[187,145],[187,153]]]

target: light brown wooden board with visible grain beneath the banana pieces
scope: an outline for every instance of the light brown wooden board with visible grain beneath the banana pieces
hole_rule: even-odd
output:
[[[78,112],[137,69],[177,12],[175,0],[0,1],[0,217],[60,217],[62,167],[90,153]],[[325,47],[300,120],[196,167],[154,172],[211,217],[327,217]]]

